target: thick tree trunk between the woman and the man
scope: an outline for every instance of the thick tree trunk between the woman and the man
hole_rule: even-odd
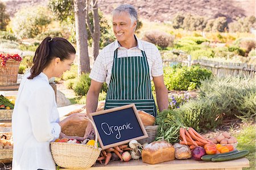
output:
[[[90,60],[88,53],[88,34],[86,30],[86,2],[84,0],[73,0],[75,11],[76,43],[78,51],[78,73],[90,72]]]

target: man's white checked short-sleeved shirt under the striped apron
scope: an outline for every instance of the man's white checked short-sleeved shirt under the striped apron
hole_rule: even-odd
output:
[[[106,82],[109,85],[112,73],[114,51],[118,48],[117,57],[141,56],[142,52],[146,53],[147,63],[150,68],[150,78],[163,75],[163,64],[158,48],[154,44],[137,39],[137,47],[127,49],[121,47],[117,40],[102,49],[93,64],[90,78],[97,82]]]

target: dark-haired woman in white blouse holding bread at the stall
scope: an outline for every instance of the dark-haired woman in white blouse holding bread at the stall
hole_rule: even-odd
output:
[[[71,68],[75,53],[63,38],[47,37],[36,49],[34,65],[20,83],[13,111],[13,169],[55,169],[49,143],[59,138],[67,123],[85,121],[85,117],[72,114],[60,122],[49,85],[49,78],[61,77]]]

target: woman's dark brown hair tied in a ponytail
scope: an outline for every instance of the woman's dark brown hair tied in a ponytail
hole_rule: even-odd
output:
[[[60,60],[69,59],[69,55],[75,54],[76,49],[64,38],[47,37],[36,49],[28,79],[38,76],[48,66],[52,59],[59,57]]]

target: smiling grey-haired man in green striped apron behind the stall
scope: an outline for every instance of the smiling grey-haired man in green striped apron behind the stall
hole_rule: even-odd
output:
[[[168,92],[163,81],[163,65],[154,44],[139,40],[134,31],[137,11],[121,5],[113,11],[113,31],[117,38],[98,55],[86,97],[86,113],[97,109],[98,94],[103,82],[108,84],[105,109],[135,103],[138,110],[156,117],[151,80],[154,81],[159,110],[168,109]]]

